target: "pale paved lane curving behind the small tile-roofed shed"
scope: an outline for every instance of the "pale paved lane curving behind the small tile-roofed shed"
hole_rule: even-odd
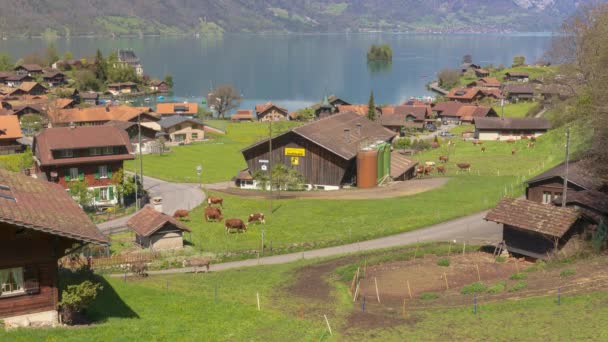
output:
[[[170,183],[160,179],[144,176],[144,188],[150,197],[160,196],[163,198],[163,212],[173,215],[177,209],[193,209],[203,202],[205,194],[194,183]],[[127,221],[133,215],[121,217],[116,220],[100,223],[97,227],[102,232],[108,232],[126,226]]]

